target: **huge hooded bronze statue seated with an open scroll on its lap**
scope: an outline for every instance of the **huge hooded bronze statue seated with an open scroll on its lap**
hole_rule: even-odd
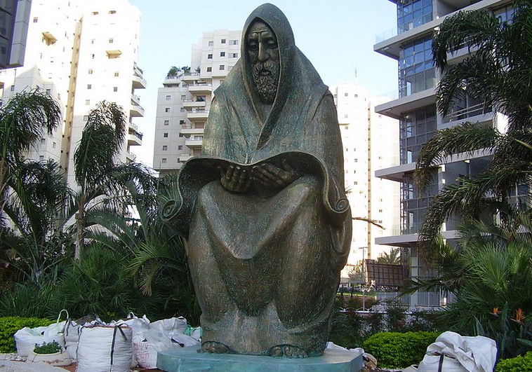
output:
[[[164,209],[187,239],[203,352],[322,354],[350,249],[343,172],[333,96],[263,4]]]

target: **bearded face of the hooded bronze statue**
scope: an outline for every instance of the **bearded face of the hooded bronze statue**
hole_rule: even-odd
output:
[[[279,85],[279,47],[277,37],[268,25],[256,21],[246,38],[246,53],[251,63],[253,82],[262,102],[274,102]]]

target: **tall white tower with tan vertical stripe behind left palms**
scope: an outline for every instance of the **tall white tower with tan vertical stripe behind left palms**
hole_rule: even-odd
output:
[[[74,186],[73,154],[88,111],[107,100],[124,108],[129,123],[117,160],[134,159],[131,146],[142,144],[142,135],[133,120],[144,116],[135,90],[146,87],[136,63],[139,41],[140,11],[127,0],[33,1],[25,63],[0,73],[3,99],[39,88],[60,104],[63,120],[29,158],[60,162]]]

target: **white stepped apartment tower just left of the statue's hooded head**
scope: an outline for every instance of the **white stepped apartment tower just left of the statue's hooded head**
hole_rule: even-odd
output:
[[[213,91],[239,60],[241,34],[227,29],[204,32],[192,46],[191,70],[166,76],[157,95],[154,170],[173,172],[201,153]]]

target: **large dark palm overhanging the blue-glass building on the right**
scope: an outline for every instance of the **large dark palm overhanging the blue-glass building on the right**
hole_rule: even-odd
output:
[[[508,125],[500,133],[496,128],[464,123],[437,132],[423,146],[414,173],[422,190],[430,183],[434,167],[452,154],[485,151],[493,161],[484,172],[460,177],[439,192],[427,209],[422,242],[435,242],[441,223],[453,212],[467,217],[491,210],[505,221],[510,189],[531,184],[532,6],[529,1],[514,0],[514,8],[511,22],[500,22],[486,11],[460,11],[446,18],[434,34],[433,61],[444,73],[437,86],[439,112],[446,115],[455,102],[469,95],[503,113]],[[463,45],[474,52],[449,65],[448,51]]]

